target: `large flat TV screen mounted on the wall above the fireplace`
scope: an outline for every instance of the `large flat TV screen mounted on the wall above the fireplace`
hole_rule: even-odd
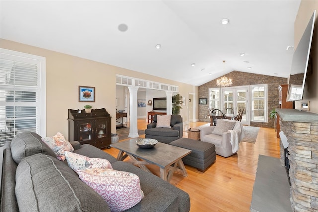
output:
[[[306,74],[310,65],[310,48],[312,44],[316,10],[309,20],[307,27],[294,51],[291,74],[289,76],[287,101],[302,100]],[[310,66],[309,66],[310,65]]]

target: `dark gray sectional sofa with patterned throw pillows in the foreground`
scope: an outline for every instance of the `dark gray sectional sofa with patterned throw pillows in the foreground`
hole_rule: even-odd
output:
[[[89,144],[71,142],[74,152],[110,161],[113,169],[136,174],[145,197],[129,212],[188,212],[181,189]],[[4,148],[1,212],[108,212],[106,202],[33,132],[22,132]]]

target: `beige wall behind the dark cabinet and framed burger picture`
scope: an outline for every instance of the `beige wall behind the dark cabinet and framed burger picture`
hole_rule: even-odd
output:
[[[177,85],[181,96],[188,96],[189,92],[198,93],[196,86],[4,39],[0,41],[1,48],[46,58],[46,136],[56,132],[68,136],[68,109],[83,109],[85,105],[78,101],[79,85],[96,88],[96,102],[89,104],[93,109],[106,108],[113,116],[112,133],[115,133],[116,74]],[[188,121],[187,108],[182,109],[181,115],[184,121]]]

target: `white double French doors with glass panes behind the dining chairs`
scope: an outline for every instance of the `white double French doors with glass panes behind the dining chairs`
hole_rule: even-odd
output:
[[[234,114],[238,114],[240,109],[244,109],[242,124],[249,126],[249,86],[221,88],[221,94],[221,110],[233,108]]]

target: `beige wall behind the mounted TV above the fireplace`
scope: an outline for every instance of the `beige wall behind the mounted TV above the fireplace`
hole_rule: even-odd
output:
[[[295,47],[298,45],[303,32],[316,10],[314,36],[310,56],[313,71],[307,75],[303,100],[295,101],[295,108],[300,109],[300,103],[309,101],[310,112],[318,113],[318,0],[302,0],[295,19]]]

